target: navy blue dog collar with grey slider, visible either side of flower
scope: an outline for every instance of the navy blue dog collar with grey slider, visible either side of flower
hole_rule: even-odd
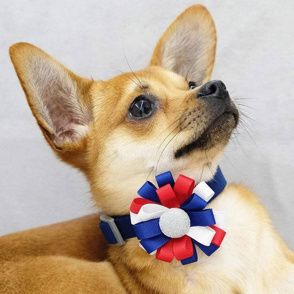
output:
[[[208,203],[210,203],[227,185],[227,181],[225,180],[219,166],[213,179],[206,182],[206,184],[214,191],[213,197],[208,201]],[[101,220],[102,221],[99,223],[99,227],[108,244],[123,245],[124,240],[136,237],[134,226],[131,224],[129,214],[125,216],[113,217],[103,215],[101,216]]]

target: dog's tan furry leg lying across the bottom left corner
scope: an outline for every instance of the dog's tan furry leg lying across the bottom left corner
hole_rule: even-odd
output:
[[[22,257],[0,268],[0,293],[124,294],[111,263],[63,256]]]

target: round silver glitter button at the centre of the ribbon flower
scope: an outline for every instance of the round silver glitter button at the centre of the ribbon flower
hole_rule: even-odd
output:
[[[180,238],[190,229],[190,218],[180,208],[170,208],[159,218],[159,227],[164,235],[171,238]]]

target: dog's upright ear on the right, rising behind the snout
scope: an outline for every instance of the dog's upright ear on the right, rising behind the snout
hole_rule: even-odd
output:
[[[158,41],[150,62],[187,76],[197,86],[210,80],[216,52],[216,29],[208,10],[186,9]]]

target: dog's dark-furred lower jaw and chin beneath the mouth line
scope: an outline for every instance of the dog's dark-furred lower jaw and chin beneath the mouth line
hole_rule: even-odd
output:
[[[201,135],[191,139],[174,153],[175,158],[191,154],[195,150],[209,150],[224,148],[238,124],[238,116],[233,112],[224,112],[203,129]]]

